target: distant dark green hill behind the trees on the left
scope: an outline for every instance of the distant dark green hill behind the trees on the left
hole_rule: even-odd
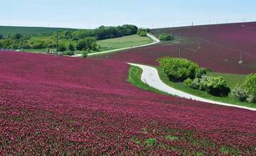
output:
[[[78,30],[73,28],[47,28],[47,27],[22,27],[22,26],[0,26],[0,34],[4,37],[11,33],[21,34],[38,34],[38,33],[53,33],[56,30]]]

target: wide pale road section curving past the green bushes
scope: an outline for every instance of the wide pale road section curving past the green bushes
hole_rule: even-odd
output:
[[[256,108],[248,108],[245,106],[237,106],[237,105],[233,105],[233,104],[226,104],[223,102],[218,102],[218,101],[211,101],[208,99],[203,99],[201,97],[198,96],[194,96],[191,94],[187,94],[183,91],[179,91],[177,89],[174,89],[172,87],[169,87],[168,85],[164,84],[164,82],[161,81],[159,74],[156,70],[156,68],[154,67],[149,67],[146,65],[139,65],[139,64],[133,64],[133,63],[128,63],[129,65],[133,65],[133,66],[137,66],[140,67],[143,72],[142,72],[142,82],[144,82],[145,84],[148,84],[150,87],[153,87],[159,91],[164,91],[168,94],[174,95],[174,96],[179,96],[185,99],[192,99],[195,101],[202,101],[202,102],[206,102],[206,103],[210,103],[210,104],[218,104],[218,105],[222,105],[222,106],[230,106],[230,107],[236,107],[236,108],[243,108],[243,109],[247,109],[250,111],[256,111]]]

